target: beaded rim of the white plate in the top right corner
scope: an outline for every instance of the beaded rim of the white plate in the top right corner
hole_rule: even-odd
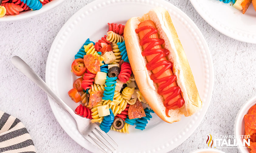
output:
[[[248,32],[242,31],[241,29],[236,29],[233,28],[231,29],[229,26],[223,25],[223,27],[221,25],[218,25],[216,21],[216,23],[213,21],[213,19],[208,15],[209,13],[207,13],[206,11],[203,11],[203,9],[201,9],[201,7],[199,6],[198,0],[189,0],[190,3],[193,5],[193,7],[195,8],[196,12],[210,25],[212,26],[214,29],[216,29],[217,31],[219,31],[220,33],[241,41],[241,42],[247,42],[247,43],[252,43],[252,44],[256,44],[256,34],[252,35],[251,38],[249,38]],[[217,18],[218,19],[218,18]],[[236,30],[237,32],[233,34],[229,31],[234,31]],[[239,35],[240,33],[240,35]],[[246,37],[247,36],[247,37]]]

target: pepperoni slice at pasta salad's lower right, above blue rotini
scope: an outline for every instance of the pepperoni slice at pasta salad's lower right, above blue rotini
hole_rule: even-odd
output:
[[[135,104],[130,105],[129,109],[128,109],[128,117],[129,119],[134,119],[134,118],[141,118],[141,117],[145,117],[145,111],[142,107],[141,102],[138,100]]]

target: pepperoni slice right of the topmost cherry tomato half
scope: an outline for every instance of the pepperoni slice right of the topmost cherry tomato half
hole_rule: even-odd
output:
[[[84,55],[84,65],[93,74],[100,72],[100,56]]]

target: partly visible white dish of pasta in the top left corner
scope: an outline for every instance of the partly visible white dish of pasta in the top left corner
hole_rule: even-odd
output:
[[[50,9],[53,9],[57,5],[63,3],[65,0],[52,0],[51,2],[48,2],[47,4],[43,5],[41,9],[35,10],[35,11],[24,11],[20,12],[19,15],[5,15],[2,18],[0,18],[0,22],[5,21],[15,21],[15,20],[22,20],[26,18],[31,18],[33,16],[39,15],[41,13],[47,12]]]

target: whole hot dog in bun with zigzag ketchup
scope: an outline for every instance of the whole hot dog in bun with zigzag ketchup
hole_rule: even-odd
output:
[[[192,71],[165,9],[129,19],[124,38],[138,88],[162,120],[173,123],[200,110]]]

